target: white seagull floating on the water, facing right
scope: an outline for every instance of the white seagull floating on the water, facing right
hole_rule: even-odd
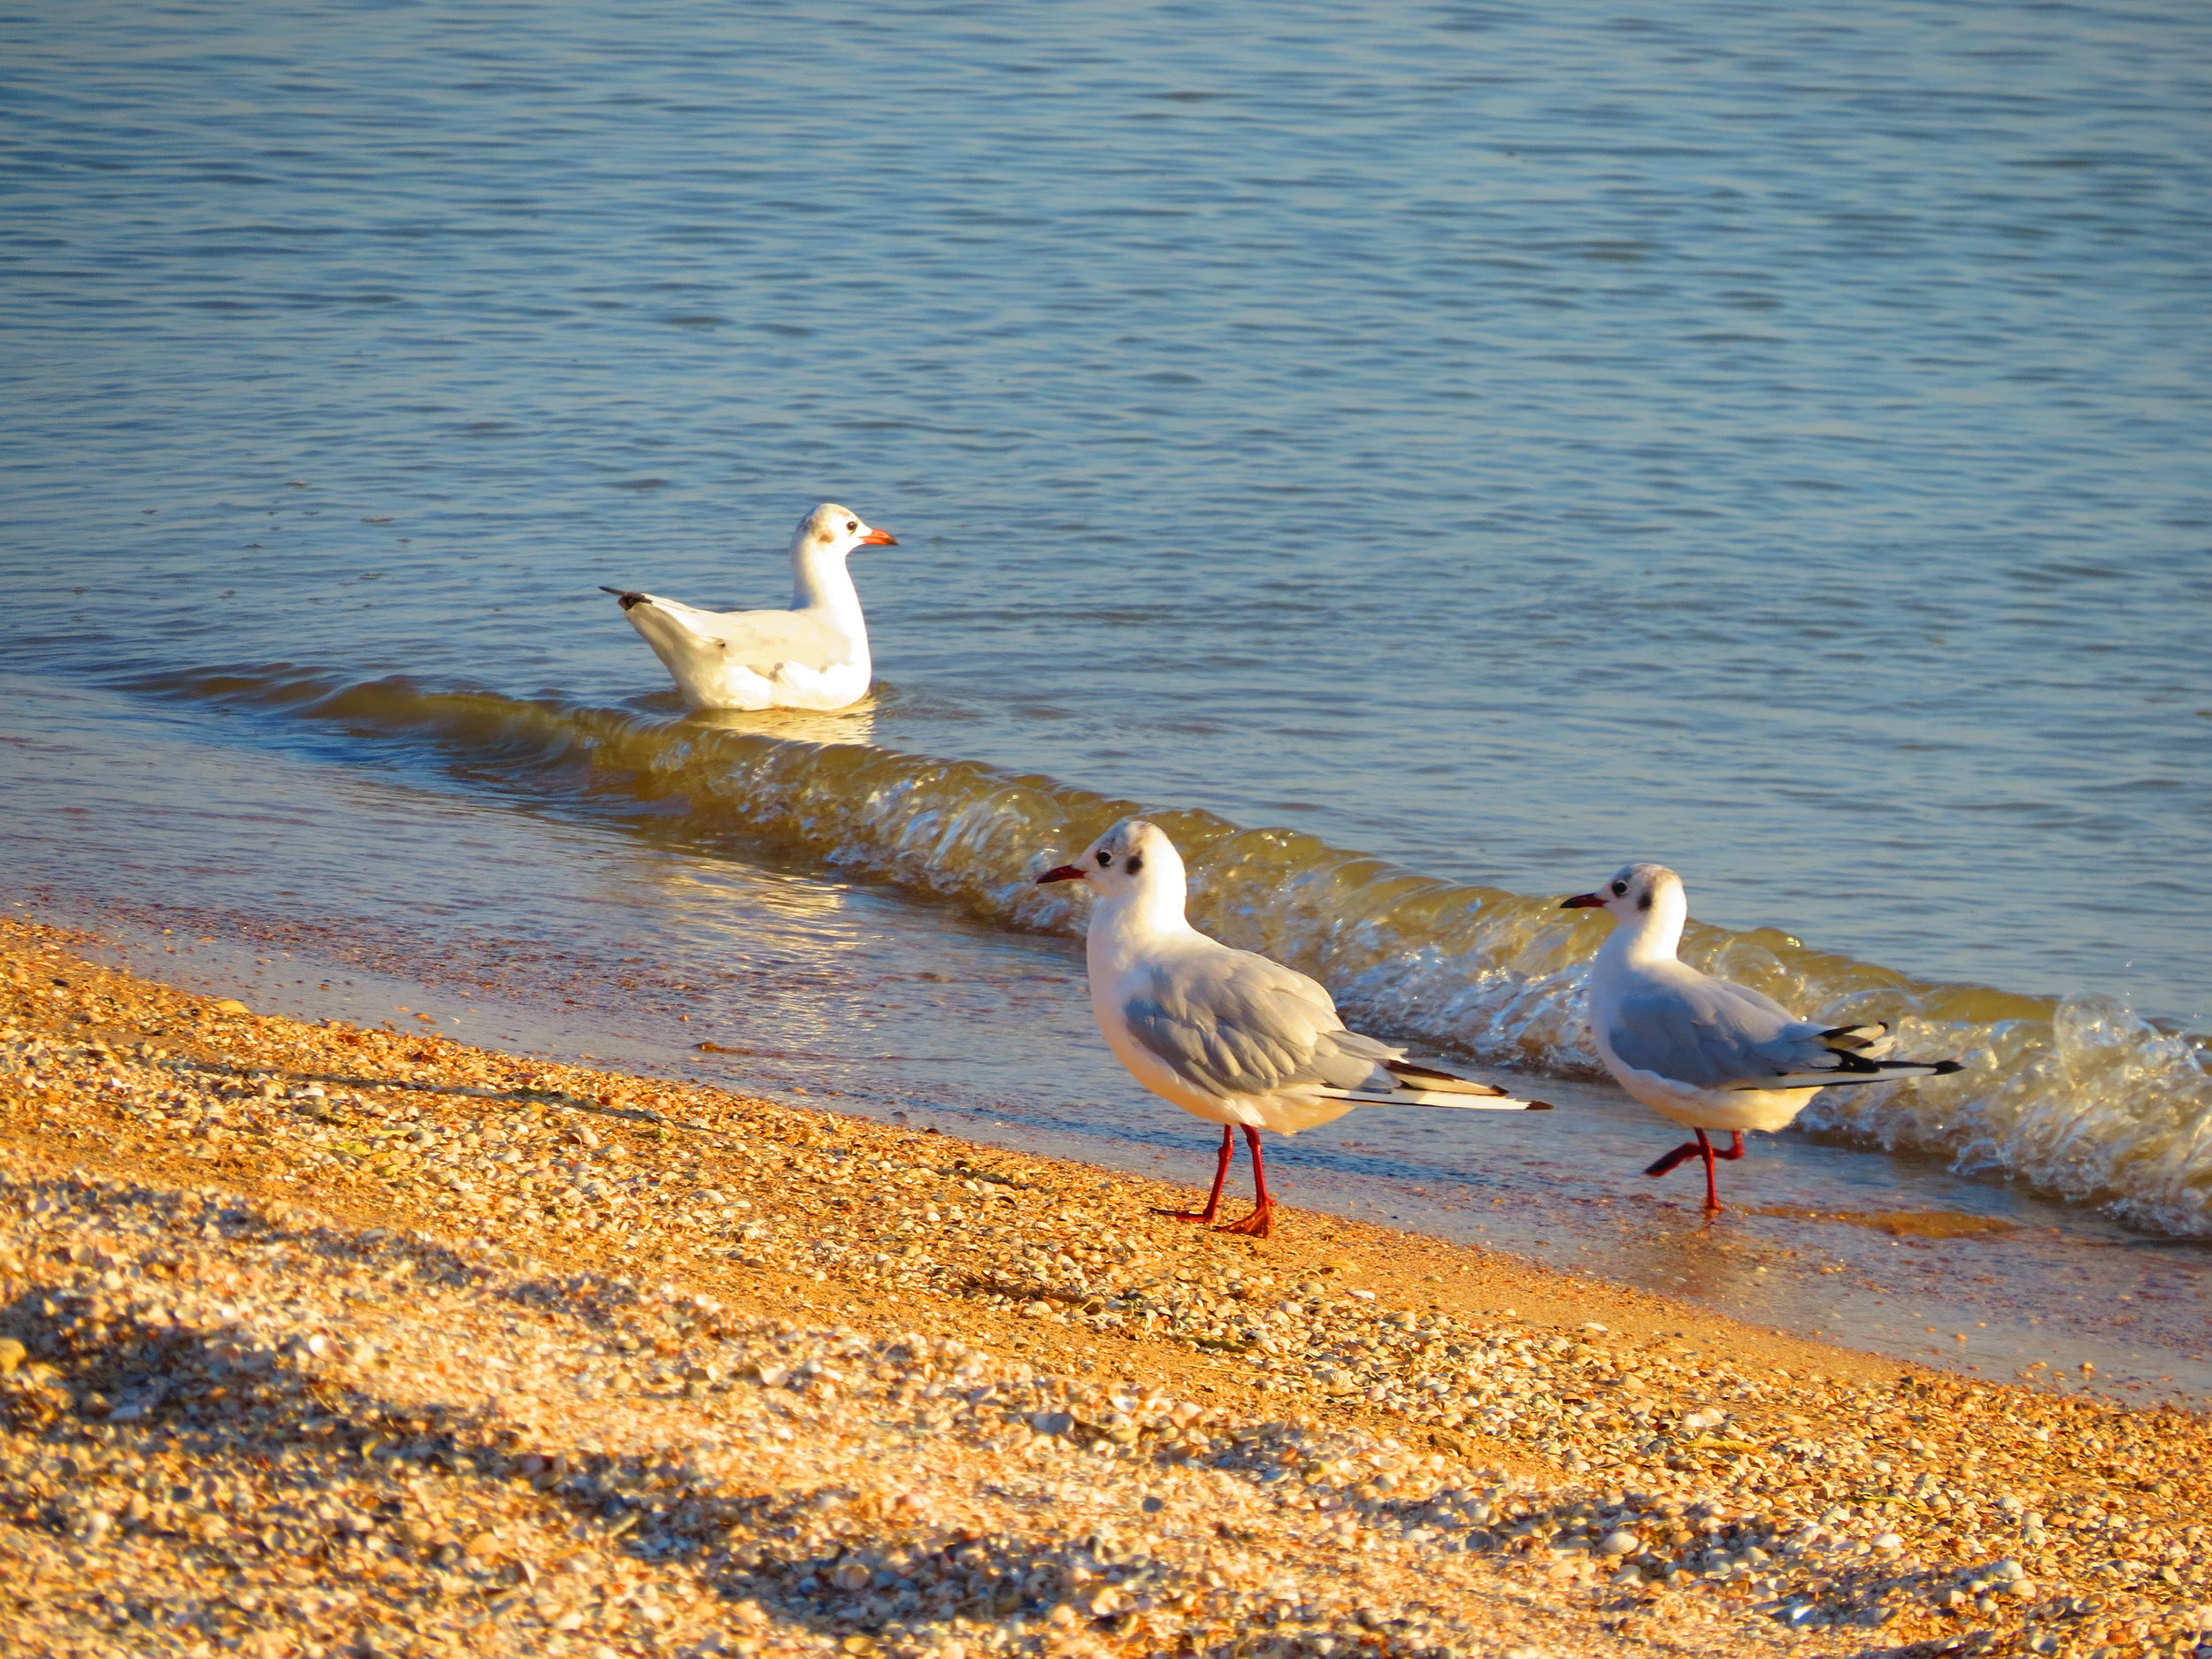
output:
[[[845,555],[898,546],[836,502],[823,502],[792,535],[790,611],[695,611],[675,599],[602,588],[622,599],[692,708],[845,708],[867,697],[867,622]]]

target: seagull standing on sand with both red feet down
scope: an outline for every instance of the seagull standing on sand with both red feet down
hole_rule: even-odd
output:
[[[1252,951],[1232,951],[1183,918],[1183,858],[1144,818],[1124,818],[1073,865],[1037,883],[1079,880],[1097,896],[1086,953],[1091,1011],[1130,1075],[1186,1113],[1221,1124],[1214,1190],[1203,1210],[1161,1210],[1212,1221],[1237,1157],[1237,1128],[1252,1148],[1254,1210],[1221,1232],[1265,1239],[1274,1199],[1259,1133],[1296,1135],[1354,1106],[1462,1106],[1551,1110],[1502,1088],[1416,1066],[1402,1048],[1345,1031],[1314,980]]]

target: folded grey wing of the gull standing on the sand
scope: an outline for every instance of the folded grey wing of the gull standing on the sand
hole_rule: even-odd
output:
[[[1345,1031],[1314,980],[1250,951],[1152,969],[1121,1006],[1130,1035],[1212,1095],[1358,1088],[1398,1048]]]

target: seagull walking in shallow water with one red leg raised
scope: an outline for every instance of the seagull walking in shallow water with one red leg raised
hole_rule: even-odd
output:
[[[1646,1175],[1705,1159],[1705,1214],[1721,1212],[1712,1161],[1743,1157],[1743,1130],[1787,1128],[1816,1088],[1947,1077],[1955,1060],[1876,1060],[1889,1026],[1823,1026],[1774,998],[1674,960],[1690,900],[1666,865],[1628,865],[1601,891],[1559,909],[1613,914],[1590,964],[1590,1035],[1621,1088],[1697,1133]],[[1725,1152],[1705,1133],[1730,1133]]]

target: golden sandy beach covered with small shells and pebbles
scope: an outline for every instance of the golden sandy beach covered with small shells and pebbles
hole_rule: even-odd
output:
[[[0,925],[11,1652],[2212,1644],[2201,1416],[91,945]]]

